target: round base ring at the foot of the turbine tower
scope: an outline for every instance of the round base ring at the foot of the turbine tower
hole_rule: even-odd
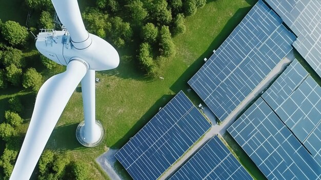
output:
[[[99,145],[103,138],[104,138],[104,135],[105,135],[105,130],[104,130],[104,127],[102,125],[101,122],[97,121],[96,120],[96,123],[95,123],[96,127],[95,127],[95,136],[97,137],[96,141],[95,142],[87,142],[86,141],[86,137],[85,137],[85,132],[84,132],[84,129],[85,129],[85,121],[79,123],[77,129],[76,129],[76,138],[78,140],[78,142],[80,144],[82,144],[83,146],[85,147],[95,147],[97,145]],[[99,138],[98,138],[99,137]]]

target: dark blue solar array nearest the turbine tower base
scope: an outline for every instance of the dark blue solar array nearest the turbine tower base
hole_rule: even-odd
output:
[[[210,127],[180,91],[115,157],[133,179],[157,179]]]

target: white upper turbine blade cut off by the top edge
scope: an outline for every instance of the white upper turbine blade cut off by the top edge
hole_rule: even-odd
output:
[[[85,49],[91,44],[89,33],[79,10],[77,0],[52,0],[60,21],[68,29],[75,48]]]

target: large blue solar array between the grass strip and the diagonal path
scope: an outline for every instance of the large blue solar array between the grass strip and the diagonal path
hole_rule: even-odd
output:
[[[262,1],[188,84],[221,122],[291,50],[295,36]]]

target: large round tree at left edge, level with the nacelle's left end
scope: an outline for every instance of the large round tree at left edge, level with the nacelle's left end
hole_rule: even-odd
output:
[[[28,31],[25,27],[14,21],[7,21],[1,27],[2,36],[9,42],[10,45],[23,45],[27,41]]]

